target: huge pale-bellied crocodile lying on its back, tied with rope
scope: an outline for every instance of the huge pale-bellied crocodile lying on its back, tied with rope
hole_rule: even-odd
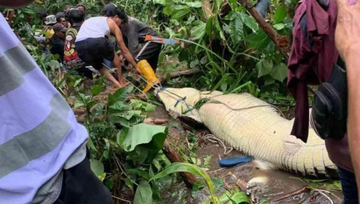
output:
[[[161,88],[156,96],[166,110],[205,125],[228,146],[260,160],[270,169],[301,176],[337,178],[325,142],[309,129],[307,143],[290,135],[294,120],[251,94],[201,92],[193,88]]]

